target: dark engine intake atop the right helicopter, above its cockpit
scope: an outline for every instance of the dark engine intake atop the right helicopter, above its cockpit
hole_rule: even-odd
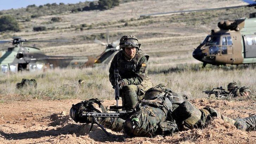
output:
[[[222,30],[235,30],[235,31],[239,31],[241,28],[238,27],[237,21],[229,21],[229,20],[225,20],[225,21],[220,21],[218,22],[218,27]]]

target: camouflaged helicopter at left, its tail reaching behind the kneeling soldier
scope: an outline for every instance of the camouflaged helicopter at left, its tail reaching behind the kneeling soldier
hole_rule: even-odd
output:
[[[1,73],[16,73],[18,71],[28,70],[37,71],[45,68],[54,67],[92,67],[98,65],[107,65],[119,51],[119,43],[112,42],[105,44],[100,40],[95,39],[95,42],[106,46],[105,51],[97,57],[68,57],[68,56],[48,56],[45,55],[39,48],[23,46],[24,42],[52,42],[65,40],[36,40],[36,39],[21,39],[14,37],[13,40],[0,41],[3,43],[12,43],[13,47],[9,47],[7,51],[0,51],[0,72]]]

